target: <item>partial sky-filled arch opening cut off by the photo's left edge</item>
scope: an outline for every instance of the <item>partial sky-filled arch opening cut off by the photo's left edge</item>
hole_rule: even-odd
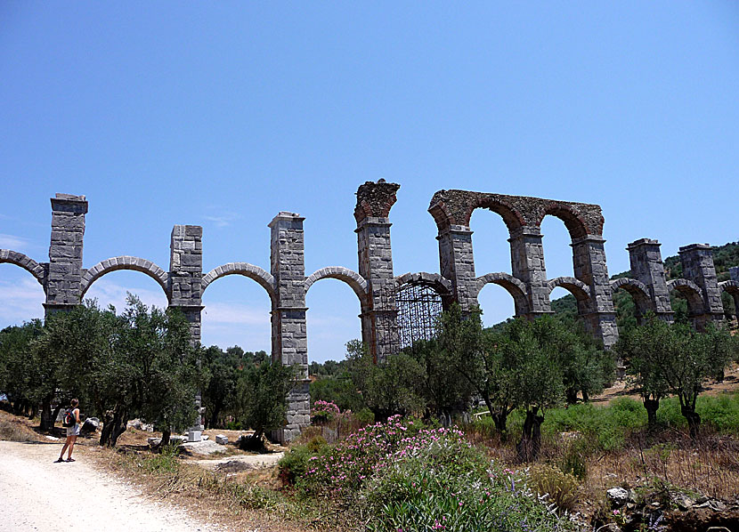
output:
[[[28,271],[0,263],[0,329],[44,318],[44,287]]]

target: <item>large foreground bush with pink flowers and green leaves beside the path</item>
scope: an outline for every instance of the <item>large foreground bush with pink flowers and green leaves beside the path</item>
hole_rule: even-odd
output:
[[[571,528],[525,473],[491,463],[458,429],[400,416],[333,446],[295,446],[280,469],[303,493],[368,516],[370,530]]]

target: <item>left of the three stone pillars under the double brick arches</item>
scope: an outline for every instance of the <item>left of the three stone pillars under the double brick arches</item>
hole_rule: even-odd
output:
[[[478,304],[472,230],[466,225],[451,224],[440,229],[436,239],[442,277],[451,280],[454,300],[463,312],[467,312]]]

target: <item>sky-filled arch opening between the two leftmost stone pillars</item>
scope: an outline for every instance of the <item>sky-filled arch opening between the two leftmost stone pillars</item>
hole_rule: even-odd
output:
[[[129,293],[148,306],[166,309],[168,304],[166,294],[157,281],[133,270],[109,271],[95,278],[83,295],[83,300],[94,299],[101,309],[113,305],[119,314],[126,309]]]

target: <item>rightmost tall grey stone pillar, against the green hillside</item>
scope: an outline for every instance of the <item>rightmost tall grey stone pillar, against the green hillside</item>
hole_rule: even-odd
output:
[[[693,281],[700,289],[703,299],[701,314],[694,314],[696,330],[703,330],[709,322],[721,322],[724,318],[724,305],[721,303],[721,290],[713,265],[713,252],[708,244],[692,244],[679,249],[683,264],[683,277]]]

